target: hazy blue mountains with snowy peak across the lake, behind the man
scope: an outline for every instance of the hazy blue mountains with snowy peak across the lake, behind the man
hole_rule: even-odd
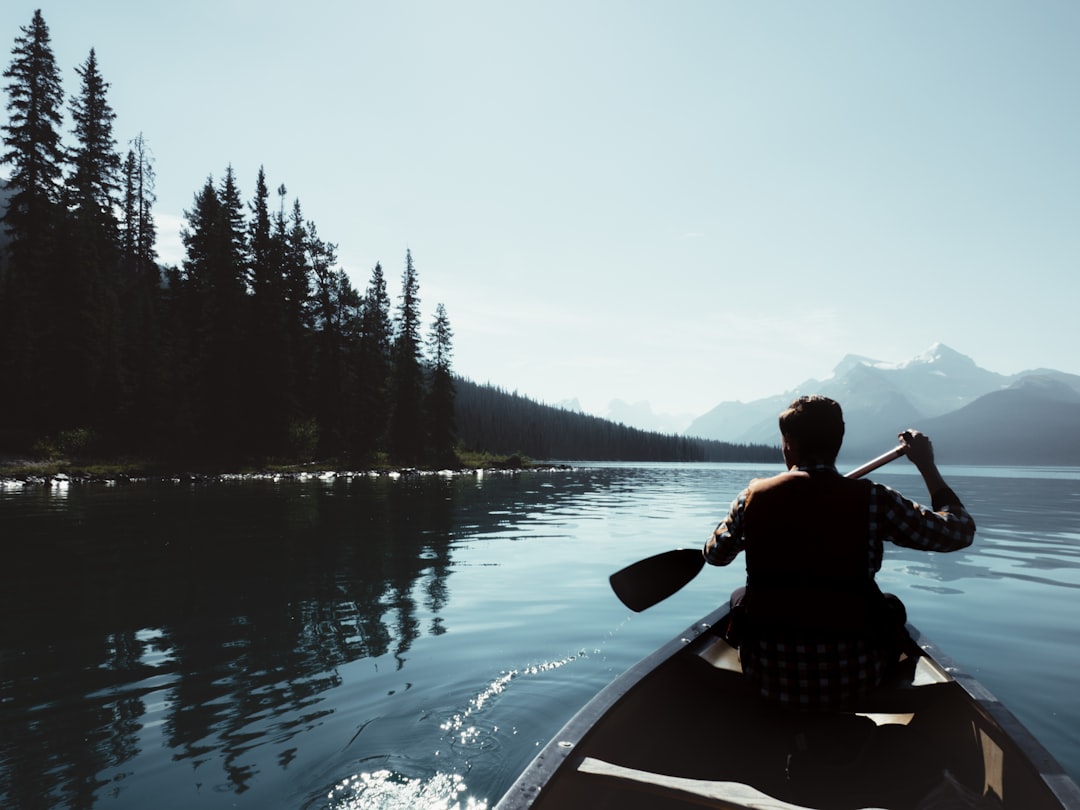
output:
[[[686,433],[778,443],[780,411],[811,393],[843,407],[841,458],[881,453],[897,432],[918,428],[931,435],[943,463],[1080,465],[1080,376],[1044,368],[997,374],[943,343],[897,364],[848,355],[825,380],[750,403],[720,403]]]

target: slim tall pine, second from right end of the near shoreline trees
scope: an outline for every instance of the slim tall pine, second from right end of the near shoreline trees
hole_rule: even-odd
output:
[[[424,446],[419,292],[413,254],[406,251],[394,335],[393,402],[390,414],[390,454],[396,461],[406,464],[418,463]]]

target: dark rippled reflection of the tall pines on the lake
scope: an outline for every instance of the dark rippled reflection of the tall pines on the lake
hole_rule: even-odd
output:
[[[507,514],[476,494],[491,486],[512,496]],[[233,794],[287,768],[334,712],[341,666],[401,669],[421,634],[446,632],[455,539],[524,519],[516,486],[65,483],[5,498],[0,798],[92,807],[149,741]]]

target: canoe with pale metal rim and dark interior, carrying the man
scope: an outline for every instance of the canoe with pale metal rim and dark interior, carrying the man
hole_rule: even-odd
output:
[[[1080,808],[1061,765],[914,625],[894,681],[858,712],[807,714],[747,691],[727,611],[605,687],[496,810]]]

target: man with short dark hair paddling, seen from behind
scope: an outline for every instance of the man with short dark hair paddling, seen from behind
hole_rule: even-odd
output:
[[[971,544],[975,523],[916,430],[900,440],[929,509],[837,472],[843,414],[834,400],[795,400],[780,415],[780,433],[787,470],[740,492],[704,556],[724,566],[745,552],[729,640],[756,691],[787,708],[839,708],[881,684],[906,637],[903,604],[875,582],[883,543],[956,551]]]

